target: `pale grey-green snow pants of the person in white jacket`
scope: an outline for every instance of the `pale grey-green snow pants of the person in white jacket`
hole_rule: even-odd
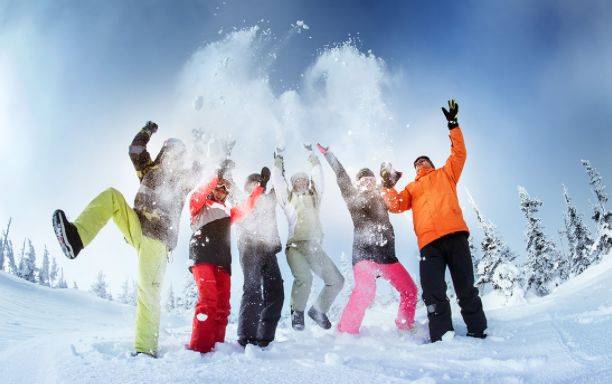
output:
[[[316,310],[327,313],[344,285],[344,277],[334,262],[318,241],[293,241],[287,244],[286,253],[294,277],[291,308],[294,311],[304,312],[314,272],[323,280],[325,286],[313,306]]]

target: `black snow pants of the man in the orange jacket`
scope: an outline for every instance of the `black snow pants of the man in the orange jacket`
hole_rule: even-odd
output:
[[[468,236],[467,232],[452,233],[421,249],[419,263],[421,287],[423,301],[427,306],[432,342],[441,340],[442,335],[453,330],[444,279],[446,266],[450,270],[461,315],[468,332],[481,333],[487,328],[487,319],[478,296],[478,289],[474,287],[474,270]]]

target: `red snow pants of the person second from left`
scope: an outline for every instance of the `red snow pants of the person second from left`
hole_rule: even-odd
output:
[[[210,352],[215,343],[225,341],[230,313],[230,275],[213,264],[197,264],[191,269],[198,287],[189,349]]]

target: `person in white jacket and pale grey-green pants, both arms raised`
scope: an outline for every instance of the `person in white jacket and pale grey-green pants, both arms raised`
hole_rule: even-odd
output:
[[[312,287],[312,273],[321,278],[325,286],[308,310],[308,316],[324,329],[331,328],[327,312],[344,285],[344,278],[338,267],[321,247],[323,231],[319,208],[324,187],[323,169],[312,152],[312,147],[305,147],[308,151],[310,175],[304,172],[294,174],[288,187],[284,176],[283,156],[276,152],[271,179],[289,226],[285,253],[294,277],[291,290],[291,325],[298,331],[303,330],[305,326],[304,311]]]

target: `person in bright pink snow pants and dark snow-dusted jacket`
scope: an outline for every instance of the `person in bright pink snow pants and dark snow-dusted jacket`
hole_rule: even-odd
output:
[[[353,273],[355,286],[342,312],[338,330],[359,333],[365,311],[376,295],[376,279],[389,281],[400,294],[395,324],[400,330],[414,327],[417,288],[395,256],[395,232],[374,173],[363,168],[353,185],[348,173],[328,148],[319,151],[336,173],[338,186],[353,220]]]

